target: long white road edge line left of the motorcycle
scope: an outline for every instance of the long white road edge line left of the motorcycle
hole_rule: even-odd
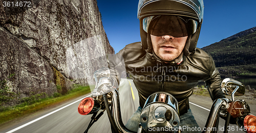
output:
[[[91,95],[92,95],[92,94],[90,94],[90,95],[88,95],[88,96],[86,96],[86,97],[89,97],[89,96],[91,96]],[[86,98],[86,97],[83,97],[83,98]],[[66,107],[69,107],[70,105],[72,105],[72,104],[74,104],[74,103],[76,103],[76,102],[78,102],[78,101],[81,101],[83,98],[81,98],[81,99],[79,99],[79,100],[77,100],[77,101],[74,101],[74,102],[72,102],[72,103],[66,105],[65,107],[59,108],[58,110],[55,110],[55,111],[53,111],[53,112],[51,112],[51,113],[48,113],[48,114],[46,114],[46,115],[44,115],[44,116],[41,116],[41,117],[39,117],[39,118],[37,118],[37,119],[35,119],[35,120],[33,120],[33,121],[30,121],[30,122],[28,122],[28,123],[26,123],[26,124],[24,124],[24,125],[21,125],[21,126],[19,126],[19,127],[16,127],[16,128],[14,128],[14,129],[12,129],[12,130],[6,132],[6,133],[14,132],[14,131],[16,131],[16,130],[18,130],[18,129],[20,129],[20,128],[23,128],[23,127],[25,127],[25,126],[27,126],[27,125],[29,125],[29,124],[32,124],[32,123],[34,123],[34,122],[36,122],[36,121],[38,121],[38,120],[40,120],[40,119],[42,119],[42,118],[45,118],[45,117],[47,117],[47,116],[49,116],[49,115],[51,115],[51,114],[53,114],[53,113],[55,113],[55,112],[58,112],[58,111],[60,111],[60,110],[62,110],[62,109],[64,109],[64,108],[66,108]]]

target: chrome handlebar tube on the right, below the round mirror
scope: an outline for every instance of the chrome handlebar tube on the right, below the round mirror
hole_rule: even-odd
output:
[[[217,132],[218,124],[219,124],[219,115],[220,115],[221,108],[223,106],[225,106],[224,107],[225,109],[228,107],[228,100],[226,98],[216,99],[214,101],[214,103],[212,103],[210,113],[209,113],[208,119],[205,124],[206,131],[202,131],[202,132],[204,132],[204,133],[205,132],[207,132],[207,133]],[[208,129],[210,129],[210,130],[208,130]]]

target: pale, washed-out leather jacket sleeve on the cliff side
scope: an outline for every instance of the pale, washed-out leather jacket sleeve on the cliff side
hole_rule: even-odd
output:
[[[123,60],[124,49],[125,48],[120,50],[116,55],[114,55],[109,60],[109,68],[110,68],[110,72],[111,72],[111,78],[114,79],[114,81],[115,81],[114,86],[116,88],[119,87],[121,73],[123,71],[126,71],[125,65],[124,65],[124,60]]]

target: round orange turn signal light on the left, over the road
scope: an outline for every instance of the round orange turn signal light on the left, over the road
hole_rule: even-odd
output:
[[[81,100],[78,105],[78,113],[81,115],[89,114],[94,106],[94,99],[92,97],[86,97]]]

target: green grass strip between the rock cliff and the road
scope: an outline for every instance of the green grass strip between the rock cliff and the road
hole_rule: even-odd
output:
[[[15,107],[7,108],[5,111],[0,112],[0,125],[14,119],[22,118],[33,114],[39,110],[52,107],[59,103],[74,99],[84,94],[90,93],[90,87],[77,86],[65,95],[56,94],[55,97],[47,97],[40,99],[39,102],[28,104],[22,103]]]

